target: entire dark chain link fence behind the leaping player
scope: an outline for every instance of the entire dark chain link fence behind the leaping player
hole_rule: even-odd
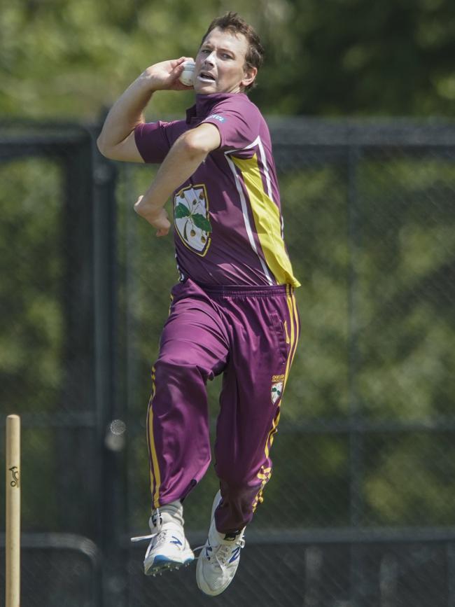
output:
[[[455,128],[270,125],[302,333],[274,474],[217,602],[452,606]],[[25,424],[23,525],[96,548],[72,545],[69,562],[58,542],[25,545],[22,590],[45,583],[37,605],[204,605],[193,567],[145,578],[128,541],[148,522],[148,377],[177,272],[172,239],[132,211],[154,167],[105,161],[95,132],[0,139],[0,400]],[[186,500],[192,545],[216,489],[209,470]],[[41,582],[47,559],[65,582]]]

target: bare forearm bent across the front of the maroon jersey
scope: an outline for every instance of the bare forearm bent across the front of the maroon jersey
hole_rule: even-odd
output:
[[[157,229],[157,236],[165,236],[171,223],[164,207],[170,195],[201,165],[211,151],[219,148],[218,128],[203,123],[183,133],[169,150],[150,188],[139,196],[134,210]]]

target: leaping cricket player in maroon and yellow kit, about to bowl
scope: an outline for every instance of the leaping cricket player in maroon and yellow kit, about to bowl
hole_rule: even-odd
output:
[[[293,275],[269,130],[246,92],[263,49],[237,13],[211,22],[195,58],[195,105],[185,120],[145,123],[188,57],[148,67],[113,105],[98,139],[113,160],[159,163],[134,209],[165,236],[172,223],[180,282],[153,366],[148,405],[151,539],[144,571],[194,559],[183,500],[211,459],[206,384],[223,374],[214,454],[220,491],[197,561],[197,585],[228,587],[244,531],[272,474],[270,447],[299,335]]]

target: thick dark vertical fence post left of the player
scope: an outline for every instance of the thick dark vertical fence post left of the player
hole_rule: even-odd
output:
[[[125,412],[118,398],[116,165],[94,151],[95,361],[99,445],[102,453],[100,531],[104,605],[127,605],[125,535]],[[114,421],[116,420],[116,421]]]

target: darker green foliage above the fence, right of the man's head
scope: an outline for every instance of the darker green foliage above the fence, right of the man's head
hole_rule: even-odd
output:
[[[269,111],[454,115],[450,0],[295,0],[286,8],[265,35]]]

